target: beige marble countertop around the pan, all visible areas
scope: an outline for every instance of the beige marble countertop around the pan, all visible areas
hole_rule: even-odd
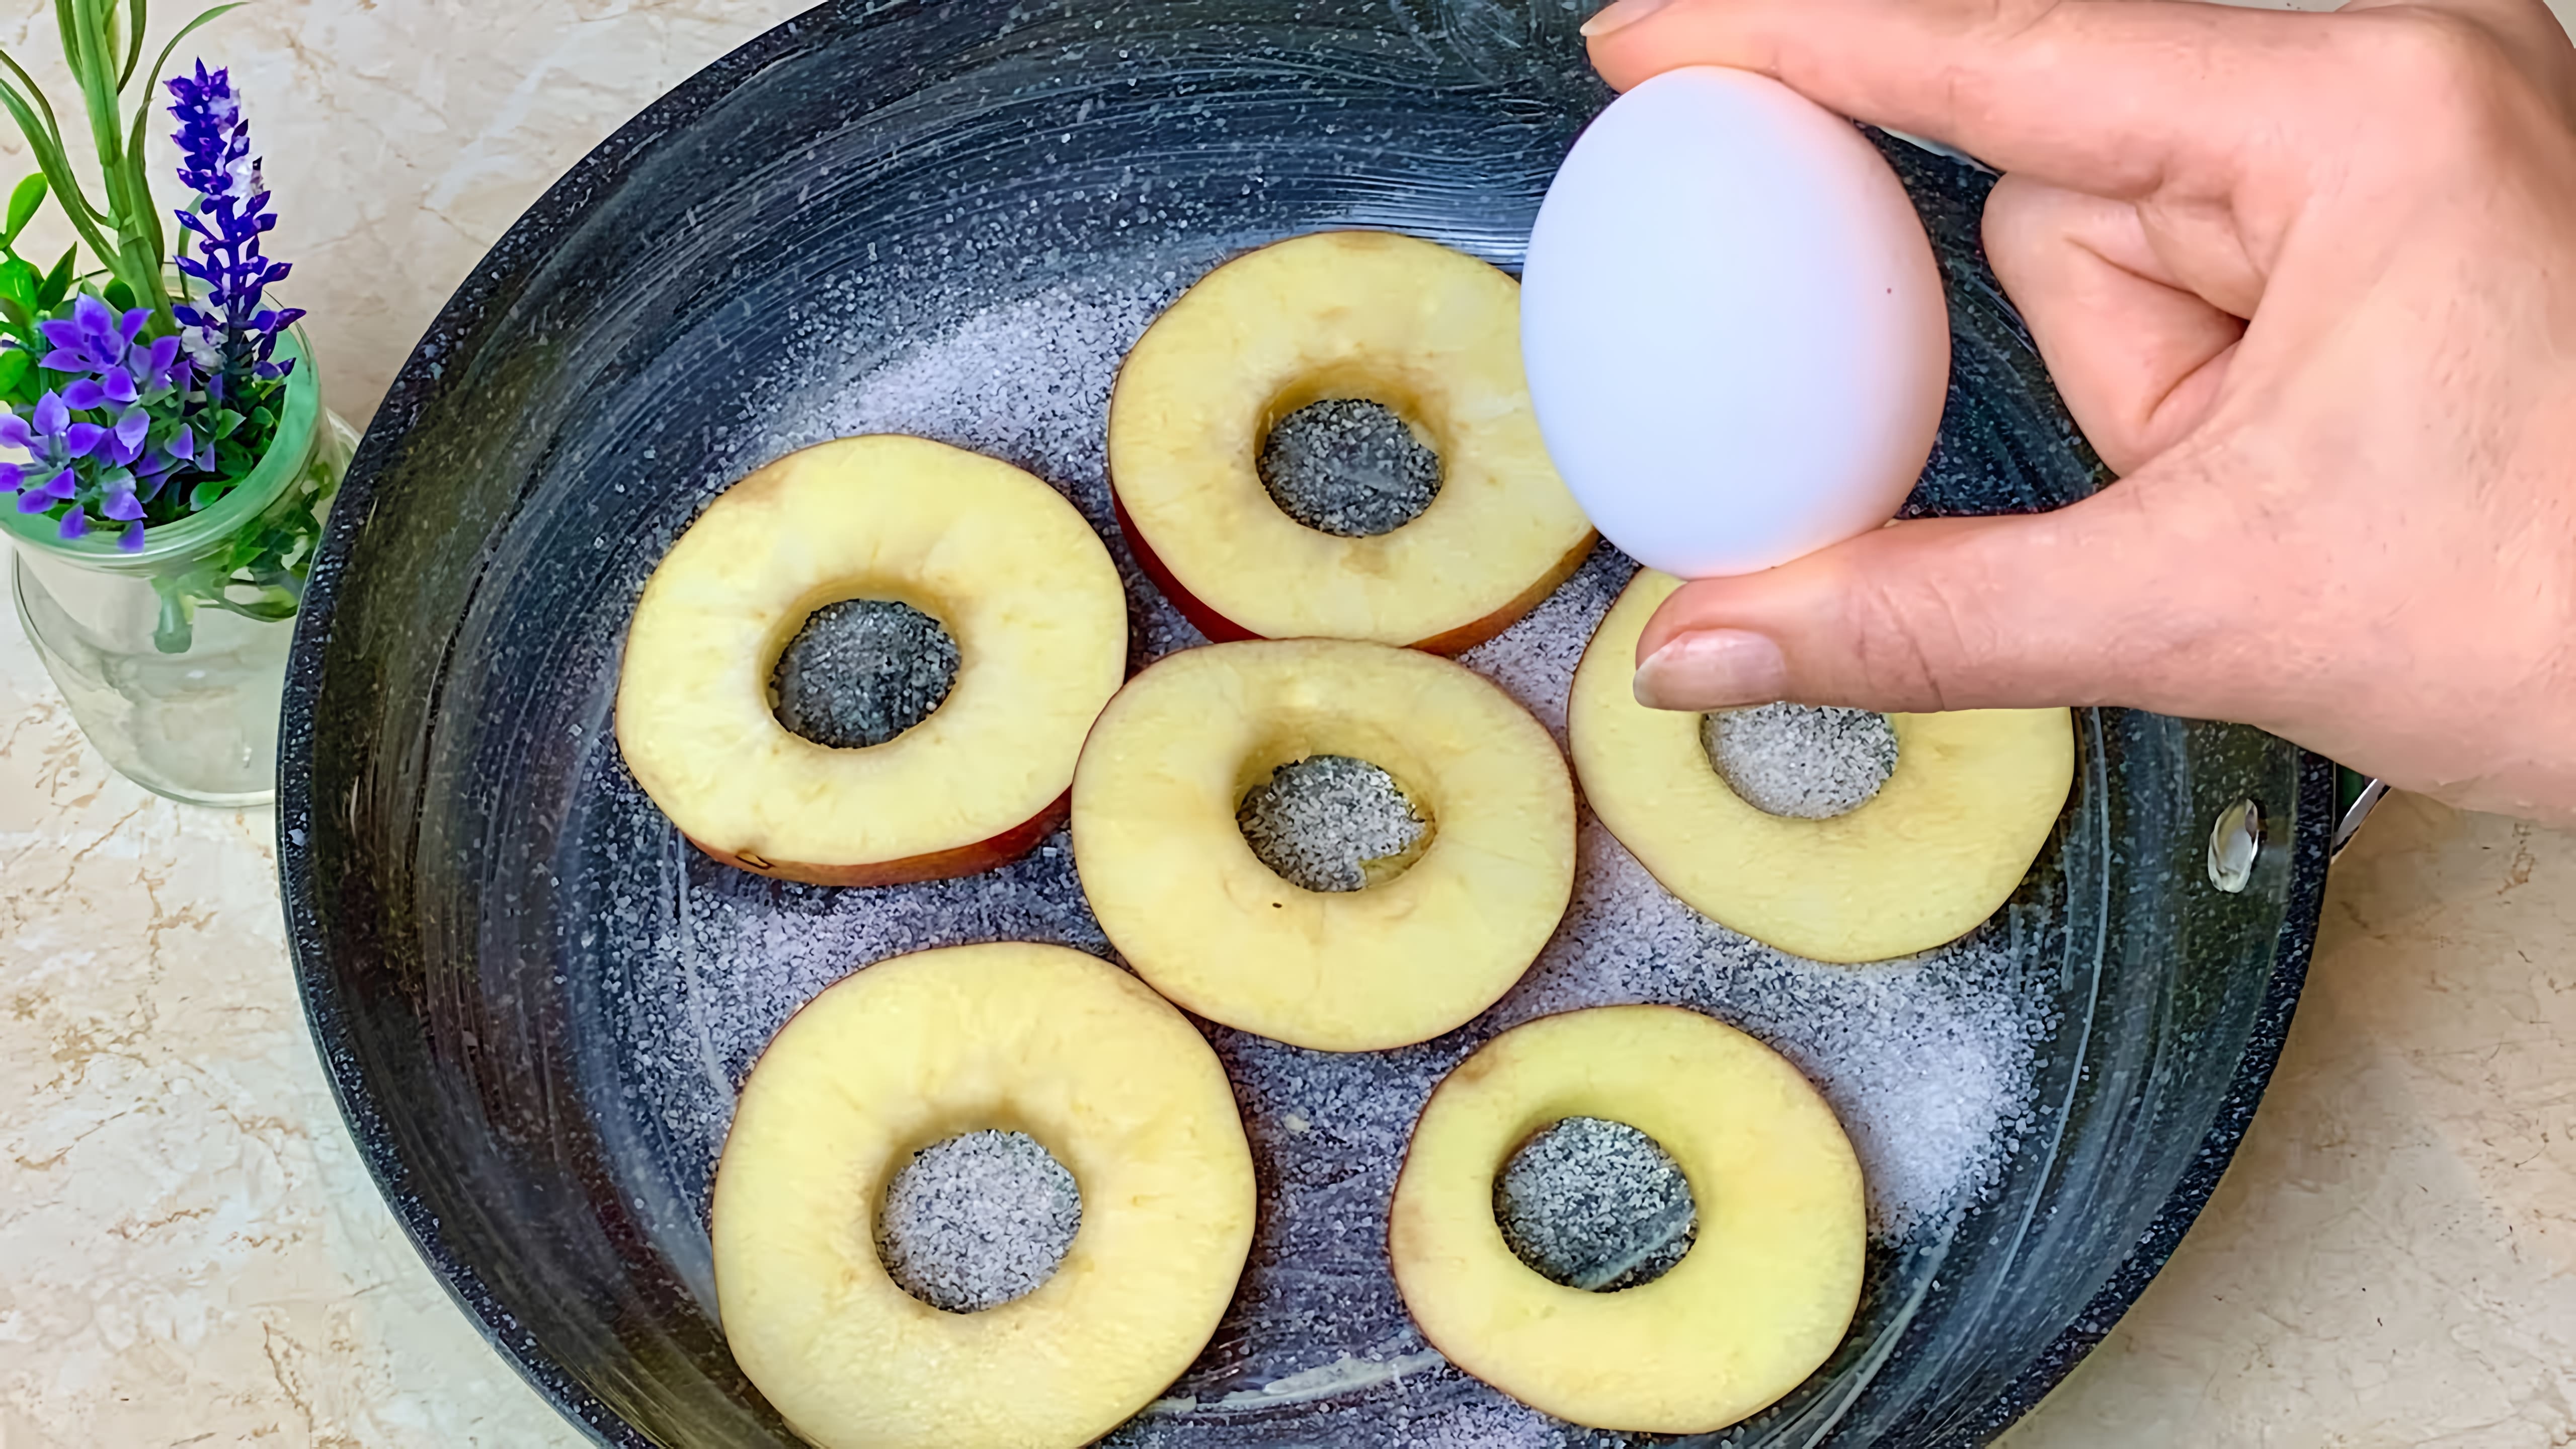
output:
[[[796,8],[268,0],[204,31],[332,405],[366,418],[564,165]],[[0,46],[52,39],[0,18]],[[358,1165],[270,828],[116,779],[0,624],[0,1449],[582,1444]],[[2576,835],[2383,807],[2208,1214],[2007,1444],[2576,1444],[2571,944]]]

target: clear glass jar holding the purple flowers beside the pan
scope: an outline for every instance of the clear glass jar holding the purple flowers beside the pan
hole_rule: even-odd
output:
[[[322,407],[301,333],[268,456],[204,513],[118,552],[106,529],[54,536],[54,521],[0,508],[15,559],[18,624],[72,719],[134,784],[191,804],[268,804],[278,781],[278,701],[322,518],[358,433]]]

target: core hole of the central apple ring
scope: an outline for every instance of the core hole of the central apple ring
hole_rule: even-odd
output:
[[[1386,884],[1430,846],[1432,822],[1396,776],[1352,755],[1306,755],[1234,810],[1244,843],[1283,882],[1342,892]]]

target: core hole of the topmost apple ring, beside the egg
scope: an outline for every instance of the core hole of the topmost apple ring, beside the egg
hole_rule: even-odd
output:
[[[1340,539],[1394,534],[1440,495],[1440,454],[1368,397],[1327,397],[1273,423],[1260,474],[1280,513]]]

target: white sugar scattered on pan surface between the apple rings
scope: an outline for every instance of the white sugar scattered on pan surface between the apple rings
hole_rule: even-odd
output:
[[[1177,294],[1167,276],[1097,281],[999,304],[927,335],[845,384],[814,384],[801,446],[894,431],[976,449],[1048,480],[1100,529],[1128,578],[1136,663],[1203,642],[1144,583],[1110,518],[1105,420],[1118,358]],[[744,459],[757,467],[762,459]],[[1584,642],[1633,565],[1600,547],[1538,611],[1461,663],[1564,743]],[[608,766],[613,789],[634,792]],[[814,993],[871,962],[966,941],[1056,941],[1108,957],[1066,835],[979,877],[817,890],[729,871],[680,846],[639,797],[636,915],[657,944],[621,967],[641,1013],[618,1047],[629,1111],[706,1171],[732,1091]],[[1824,1091],[1860,1152],[1880,1240],[1937,1230],[1984,1194],[2030,1114],[2045,998],[2025,987],[2002,928],[1909,962],[1824,967],[1723,931],[1662,887],[1589,812],[1577,897],[1538,964],[1476,1024],[1399,1052],[1321,1055],[1221,1026],[1208,1036],[1244,1106],[1265,1207],[1226,1325],[1170,1397],[1110,1444],[1257,1444],[1242,1395],[1301,1413],[1334,1444],[1566,1444],[1535,1415],[1430,1354],[1386,1271],[1386,1201],[1437,1080],[1492,1034],[1582,1006],[1656,1000],[1708,1011],[1785,1052]],[[685,1191],[685,1189],[683,1189]],[[703,1186],[696,1196],[703,1214]],[[1376,1392],[1401,1385],[1401,1392]],[[1236,1395],[1234,1403],[1226,1395]],[[1231,1403],[1231,1408],[1226,1408]],[[1267,1418],[1265,1418],[1267,1421]],[[1244,1423],[1242,1436],[1229,1423]]]

